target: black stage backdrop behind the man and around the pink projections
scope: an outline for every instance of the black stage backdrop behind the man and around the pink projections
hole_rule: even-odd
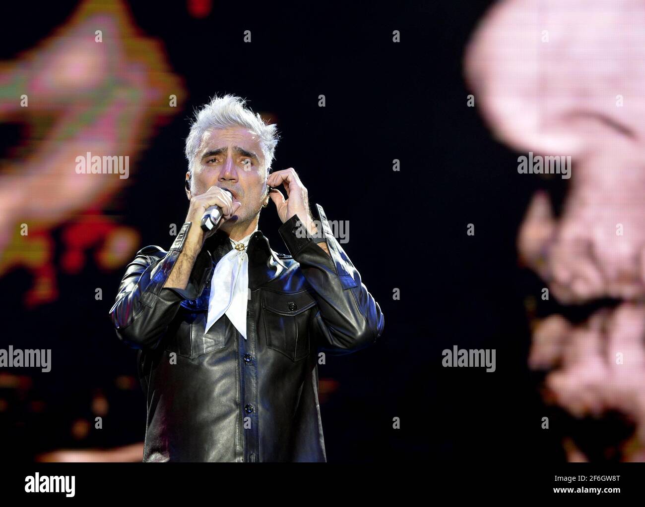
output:
[[[380,343],[319,366],[328,461],[564,461],[561,437],[573,421],[544,406],[541,376],[527,365],[525,300],[542,285],[519,265],[516,247],[533,191],[551,186],[561,195],[564,187],[519,175],[517,153],[491,139],[477,108],[466,107],[464,44],[490,3],[215,3],[199,17],[202,4],[208,5],[128,3],[130,21],[157,41],[166,71],[178,79],[161,87],[159,99],[167,104],[176,93],[177,109],[155,119],[149,137],[134,138],[130,178],[39,229],[50,241],[57,294],[26,301],[34,270],[23,263],[2,273],[1,347],[52,349],[51,372],[1,371],[4,461],[143,441],[136,351],[119,343],[108,310],[134,252],[150,244],[168,249],[170,224],[183,223],[188,118],[213,93],[241,95],[277,122],[274,170],[295,167],[310,202],[330,220],[349,221],[343,247],[384,312]],[[0,33],[1,58],[19,59],[53,36],[77,5],[43,3],[28,17],[20,14],[25,5],[3,6],[5,19],[16,21]],[[251,30],[252,43],[243,43],[243,30]],[[392,42],[393,30],[401,43]],[[26,128],[22,115],[0,126],[3,162],[18,166],[33,153],[15,147],[46,135],[33,124]],[[46,117],[37,121],[47,125]],[[48,153],[41,156],[48,164]],[[392,170],[394,159],[400,171]],[[96,229],[74,228],[88,223],[135,238],[123,240],[128,258],[96,262],[102,233],[83,244]],[[475,236],[466,234],[469,223]],[[260,229],[286,253],[279,224],[270,204]],[[81,245],[73,255],[72,244]],[[95,299],[97,288],[102,300]],[[400,300],[393,300],[395,288]],[[453,345],[496,349],[496,371],[442,367],[441,352]],[[94,428],[97,414],[101,430]],[[562,423],[544,432],[543,416]],[[393,417],[400,429],[393,429]]]

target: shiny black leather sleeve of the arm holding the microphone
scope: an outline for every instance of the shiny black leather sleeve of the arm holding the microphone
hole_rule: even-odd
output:
[[[204,249],[195,260],[186,289],[163,288],[181,253],[192,222],[184,224],[166,253],[157,246],[137,252],[126,267],[110,318],[119,340],[134,349],[154,349],[177,314],[181,301],[195,299],[212,262]],[[197,278],[199,277],[199,280]]]

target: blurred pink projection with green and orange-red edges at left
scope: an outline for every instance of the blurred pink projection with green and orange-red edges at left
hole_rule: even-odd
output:
[[[0,276],[17,267],[32,273],[28,307],[55,300],[57,269],[79,273],[90,249],[104,270],[132,256],[137,231],[101,210],[137,173],[155,129],[179,110],[171,95],[185,96],[183,79],[121,1],[81,3],[36,48],[0,64],[0,119],[28,126],[0,173]],[[89,169],[95,156],[128,157],[128,171],[79,174],[77,157]],[[60,226],[57,267],[50,231]]]

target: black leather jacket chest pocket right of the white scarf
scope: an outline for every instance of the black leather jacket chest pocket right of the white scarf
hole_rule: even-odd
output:
[[[316,301],[307,291],[262,292],[261,329],[266,346],[281,352],[292,361],[309,355],[310,309]]]

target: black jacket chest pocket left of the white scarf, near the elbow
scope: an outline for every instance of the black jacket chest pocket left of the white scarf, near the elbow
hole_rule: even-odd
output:
[[[226,347],[226,325],[223,318],[204,334],[207,313],[207,301],[181,301],[179,311],[168,329],[166,350],[184,358],[195,359]]]

